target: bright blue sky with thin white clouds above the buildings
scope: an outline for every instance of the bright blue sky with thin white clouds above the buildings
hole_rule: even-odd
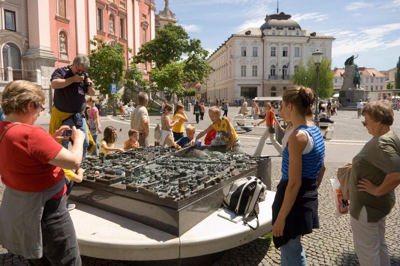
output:
[[[155,0],[157,14],[164,0]],[[169,0],[169,9],[190,38],[212,53],[231,34],[260,27],[277,0]],[[333,36],[332,68],[357,55],[359,67],[388,70],[400,56],[400,0],[280,0],[301,29]]]

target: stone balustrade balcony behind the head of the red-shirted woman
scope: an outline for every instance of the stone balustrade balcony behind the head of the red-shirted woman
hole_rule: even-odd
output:
[[[12,69],[11,67],[0,68],[0,86],[4,83],[9,83],[12,80],[28,80],[36,85],[41,85],[41,71],[25,70],[25,69]]]

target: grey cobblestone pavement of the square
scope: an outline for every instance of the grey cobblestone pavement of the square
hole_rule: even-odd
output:
[[[230,108],[232,109],[232,108]],[[233,108],[233,113],[237,111]],[[395,112],[395,122],[392,126],[394,131],[400,131],[400,114]],[[192,120],[192,115],[189,119]],[[159,117],[150,117],[151,123],[153,121],[159,120]],[[116,118],[118,119],[118,118]],[[357,118],[356,113],[350,111],[339,112],[339,114],[332,117],[337,123],[334,133],[334,140],[329,140],[327,143],[337,143],[337,145],[343,145],[343,150],[349,149],[348,144],[359,144],[362,145],[365,141],[370,139],[370,135],[362,127],[360,121],[363,118]],[[41,121],[41,120],[40,120]],[[40,122],[39,121],[39,122]],[[48,128],[44,122],[37,123],[44,128]],[[195,121],[194,121],[195,122]],[[204,117],[204,121],[200,121],[200,124],[196,125],[197,129],[203,129],[208,125],[209,121]],[[108,124],[114,124],[115,122],[111,119],[103,119],[103,128]],[[121,128],[124,134],[127,132],[129,126],[123,123],[118,124],[117,129]],[[46,128],[46,129],[47,129]],[[118,133],[119,135],[120,133]],[[123,135],[119,136],[118,143],[123,143],[125,139]],[[255,136],[255,134],[245,134],[250,138]],[[100,136],[98,139],[101,139]],[[252,140],[253,141],[253,140]],[[348,142],[348,143],[347,143]],[[117,143],[117,144],[118,144]],[[151,143],[151,142],[150,142]],[[326,152],[330,152],[330,148],[333,145],[326,145]],[[361,146],[358,146],[360,149]],[[353,154],[355,155],[355,153]],[[314,230],[313,233],[305,235],[302,238],[303,247],[307,257],[308,265],[358,265],[357,257],[354,253],[354,246],[352,243],[352,233],[349,222],[349,215],[342,215],[336,218],[334,199],[332,187],[329,178],[335,176],[335,169],[342,166],[347,161],[340,161],[341,154],[337,154],[334,161],[326,161],[326,172],[324,179],[319,188],[319,223],[320,229]],[[275,189],[276,184],[280,178],[280,158],[272,158],[272,190]],[[0,203],[4,185],[0,182]],[[386,218],[386,241],[388,245],[388,251],[391,258],[392,265],[400,266],[400,245],[398,244],[398,239],[400,239],[400,188],[397,187],[395,190],[396,203]],[[262,210],[261,210],[262,211]],[[21,258],[17,255],[6,253],[5,249],[0,246],[0,265],[28,265],[26,259]],[[279,250],[271,246],[267,246],[262,238],[255,239],[247,244],[243,244],[236,248],[226,250],[223,255],[216,261],[212,266],[222,266],[222,265],[279,265],[280,263],[280,253]],[[98,258],[91,258],[82,256],[83,265],[140,265],[145,264],[129,261],[120,260],[105,260]]]

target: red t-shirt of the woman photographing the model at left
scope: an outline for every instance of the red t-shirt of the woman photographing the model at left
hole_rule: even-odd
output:
[[[12,123],[0,122],[0,135]],[[64,178],[62,168],[47,163],[62,149],[43,128],[17,124],[3,135],[0,142],[1,181],[8,187],[25,192],[50,188]],[[59,191],[54,197],[65,193]]]

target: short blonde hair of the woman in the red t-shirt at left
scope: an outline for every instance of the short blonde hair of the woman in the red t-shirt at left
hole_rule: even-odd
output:
[[[4,114],[25,113],[26,106],[33,101],[36,107],[44,103],[43,91],[34,83],[27,80],[14,80],[9,82],[2,93],[1,107]]]

